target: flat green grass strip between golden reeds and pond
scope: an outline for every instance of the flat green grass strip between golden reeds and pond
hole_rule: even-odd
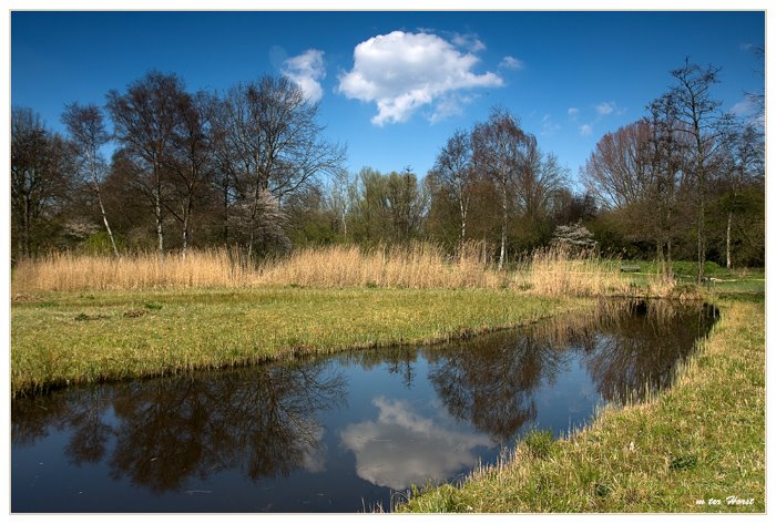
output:
[[[483,289],[47,292],[11,304],[11,390],[443,341],[584,305]]]

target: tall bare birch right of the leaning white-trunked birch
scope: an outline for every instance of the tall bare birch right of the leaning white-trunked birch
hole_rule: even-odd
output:
[[[157,71],[130,84],[125,94],[115,90],[108,93],[115,137],[145,175],[137,184],[150,198],[156,219],[160,260],[164,255],[165,158],[170,155],[183,95],[183,82],[175,74]]]

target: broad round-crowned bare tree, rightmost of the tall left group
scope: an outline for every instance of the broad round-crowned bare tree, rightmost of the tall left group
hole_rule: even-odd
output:
[[[251,230],[263,219],[265,193],[282,199],[315,176],[336,174],[345,150],[320,138],[318,105],[285,76],[232,88],[219,119],[221,150],[238,199],[249,203]],[[248,239],[253,251],[254,235]]]

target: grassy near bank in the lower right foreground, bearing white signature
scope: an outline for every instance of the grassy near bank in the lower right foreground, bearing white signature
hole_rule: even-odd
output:
[[[723,302],[711,338],[652,402],[606,409],[568,440],[535,433],[499,466],[401,510],[764,512],[764,309]]]

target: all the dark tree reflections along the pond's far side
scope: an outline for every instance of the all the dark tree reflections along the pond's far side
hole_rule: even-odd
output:
[[[662,306],[661,306],[662,305]],[[535,394],[579,357],[606,400],[664,386],[678,357],[711,327],[707,310],[664,302],[612,306],[423,351],[448,411],[506,442],[535,420]],[[387,366],[410,388],[419,353],[382,348],[344,355]],[[76,464],[106,460],[114,477],[162,492],[190,477],[241,468],[251,479],[319,468],[320,411],[345,395],[336,360],[67,390],[11,405],[13,445],[70,429]],[[652,377],[652,379],[650,379]],[[114,419],[105,415],[112,408]],[[115,422],[113,421],[115,420]],[[112,425],[109,425],[112,424]],[[115,440],[111,451],[110,442]],[[110,456],[106,456],[109,453]]]

